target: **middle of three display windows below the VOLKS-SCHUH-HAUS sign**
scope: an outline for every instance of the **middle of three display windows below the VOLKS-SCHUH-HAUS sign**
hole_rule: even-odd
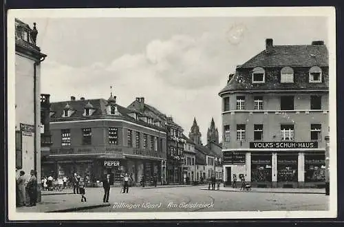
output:
[[[297,182],[297,155],[277,155],[277,181]]]

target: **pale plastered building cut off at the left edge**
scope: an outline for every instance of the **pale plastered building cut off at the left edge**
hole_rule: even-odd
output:
[[[36,45],[36,23],[29,25],[15,19],[15,118],[16,170],[30,171],[41,178],[41,62],[46,55]],[[14,136],[14,135],[13,135]],[[38,201],[41,200],[41,181],[38,180]]]

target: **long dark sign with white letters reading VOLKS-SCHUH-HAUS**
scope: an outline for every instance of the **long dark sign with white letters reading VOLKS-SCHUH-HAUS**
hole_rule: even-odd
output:
[[[250,142],[250,149],[312,149],[318,142]]]

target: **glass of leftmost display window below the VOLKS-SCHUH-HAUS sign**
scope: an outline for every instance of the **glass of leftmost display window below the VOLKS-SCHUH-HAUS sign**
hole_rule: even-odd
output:
[[[272,155],[252,155],[251,158],[251,181],[271,182],[272,181]]]

